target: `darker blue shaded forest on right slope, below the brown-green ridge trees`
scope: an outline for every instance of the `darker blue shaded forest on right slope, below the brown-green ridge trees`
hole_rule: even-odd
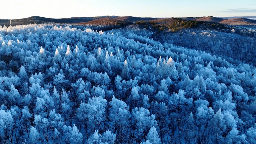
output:
[[[239,64],[242,61],[255,66],[256,30],[249,29],[243,31],[241,28],[239,29],[239,27],[236,30],[233,30],[237,30],[241,33],[186,29],[177,33],[166,33],[161,35],[160,41],[210,52],[233,62],[238,60],[235,64]]]

